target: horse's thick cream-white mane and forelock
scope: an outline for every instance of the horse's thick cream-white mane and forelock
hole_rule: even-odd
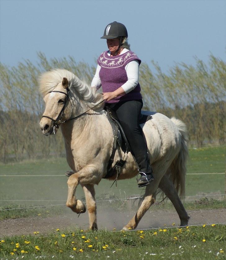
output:
[[[73,92],[75,91],[76,94],[86,101],[88,107],[94,110],[103,108],[104,102],[100,103],[103,100],[101,94],[95,93],[95,90],[88,86],[88,84],[79,80],[72,72],[63,69],[47,71],[39,77],[39,90],[43,97],[55,89],[62,82],[63,78],[67,78],[69,89]]]

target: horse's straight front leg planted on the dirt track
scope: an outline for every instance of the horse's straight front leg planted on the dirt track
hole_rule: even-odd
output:
[[[93,185],[82,185],[85,197],[86,207],[89,214],[89,229],[97,230],[97,206],[95,201],[95,190]]]

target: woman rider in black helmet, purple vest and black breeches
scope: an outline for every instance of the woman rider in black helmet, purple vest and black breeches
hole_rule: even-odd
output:
[[[141,60],[130,51],[127,37],[123,24],[115,21],[106,26],[101,39],[107,39],[109,51],[103,52],[98,58],[91,86],[96,89],[102,86],[106,105],[116,112],[139,166],[141,177],[138,186],[143,187],[154,178],[139,125],[143,106],[138,83]]]

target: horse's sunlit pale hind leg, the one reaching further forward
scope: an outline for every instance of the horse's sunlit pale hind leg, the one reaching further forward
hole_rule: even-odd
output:
[[[135,216],[129,221],[129,223],[124,226],[123,230],[135,229],[140,222],[143,215],[147,212],[147,210],[151,207],[151,205],[155,202],[156,199],[156,184],[154,181],[146,187],[144,199],[141,203],[140,208],[138,209]]]

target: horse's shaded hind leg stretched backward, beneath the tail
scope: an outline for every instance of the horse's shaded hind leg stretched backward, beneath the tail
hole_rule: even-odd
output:
[[[169,180],[168,176],[164,175],[159,183],[159,188],[165,193],[165,195],[171,200],[176,209],[181,226],[188,226],[188,214],[177,194],[174,184]]]

